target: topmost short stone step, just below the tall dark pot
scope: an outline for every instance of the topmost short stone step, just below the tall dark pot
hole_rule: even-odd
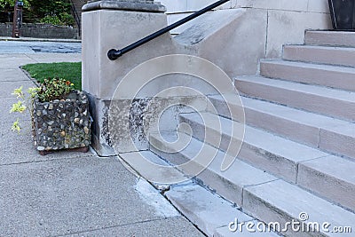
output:
[[[355,47],[355,32],[308,30],[305,32],[304,43]]]

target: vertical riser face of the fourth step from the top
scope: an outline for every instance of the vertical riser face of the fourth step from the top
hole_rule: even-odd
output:
[[[235,84],[241,94],[246,96],[266,99],[282,105],[301,108],[322,115],[330,115],[355,121],[355,101],[351,103],[340,99],[326,98],[319,95],[290,91],[243,81],[236,81]]]

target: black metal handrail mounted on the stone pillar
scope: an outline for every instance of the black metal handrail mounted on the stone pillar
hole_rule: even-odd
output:
[[[115,49],[109,50],[107,52],[107,57],[108,57],[108,59],[111,59],[111,60],[118,59],[123,54],[138,48],[140,45],[145,44],[145,43],[153,40],[156,37],[162,36],[165,33],[169,32],[171,29],[177,28],[177,27],[185,24],[186,22],[195,19],[196,17],[199,17],[202,14],[211,11],[212,9],[216,8],[217,6],[219,6],[221,4],[225,4],[228,1],[230,1],[230,0],[220,0],[220,1],[217,1],[216,3],[214,3],[214,4],[210,4],[209,6],[201,9],[200,11],[194,12],[193,14],[185,17],[184,19],[178,20],[177,22],[171,24],[170,26],[168,26],[166,28],[162,28],[162,29],[154,32],[152,35],[146,36],[143,39],[138,40],[137,42],[132,43],[132,44],[128,45],[127,47],[124,47],[121,50],[115,50]]]

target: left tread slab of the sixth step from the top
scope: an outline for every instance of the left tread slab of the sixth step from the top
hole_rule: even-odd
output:
[[[198,115],[196,114],[185,114],[181,116],[185,117],[185,119],[201,124],[201,121],[198,119]],[[217,115],[204,115],[204,117],[209,116]],[[219,119],[222,124],[222,129],[228,131],[228,128],[231,126],[230,123],[232,121],[223,117],[219,117]],[[238,124],[239,122],[233,123]],[[229,134],[229,132],[227,132],[226,134]],[[304,146],[302,144],[296,143],[286,138],[281,138],[264,130],[258,130],[248,125],[245,126],[244,142],[249,145],[261,148],[264,151],[268,151],[271,154],[275,154],[280,157],[285,157],[289,161],[295,163],[308,161],[328,155],[327,153],[321,152],[318,149],[314,149],[310,146]]]

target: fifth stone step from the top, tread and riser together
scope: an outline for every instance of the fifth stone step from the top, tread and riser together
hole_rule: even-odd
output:
[[[211,96],[209,99],[217,107],[219,115],[229,117],[222,97]],[[332,154],[355,159],[355,123],[259,99],[241,97],[241,100],[248,125]],[[229,107],[239,106],[232,101],[229,102]]]

